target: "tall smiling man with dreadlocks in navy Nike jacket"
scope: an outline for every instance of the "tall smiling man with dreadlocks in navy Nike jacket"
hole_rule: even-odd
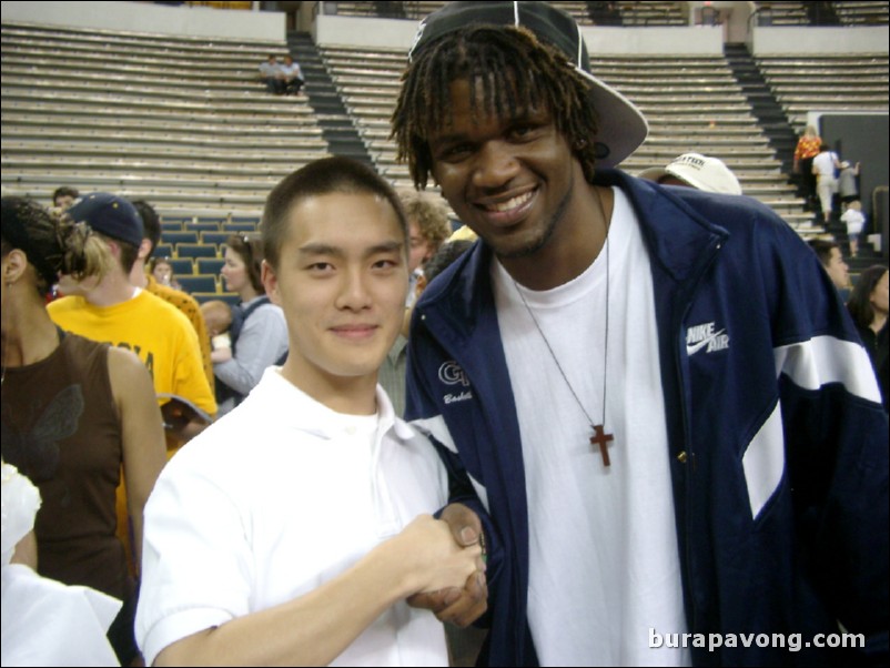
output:
[[[610,169],[646,122],[547,4],[449,2],[409,61],[400,154],[482,240],[415,310],[406,411],[487,546],[481,661],[827,665],[838,621],[886,660],[887,421],[812,253]]]

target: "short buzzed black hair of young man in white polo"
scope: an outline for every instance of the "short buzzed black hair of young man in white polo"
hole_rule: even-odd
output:
[[[370,166],[351,158],[322,158],[285,176],[266,198],[261,229],[265,260],[274,269],[287,234],[287,213],[299,202],[330,193],[370,193],[393,208],[407,252],[408,223],[393,186]]]

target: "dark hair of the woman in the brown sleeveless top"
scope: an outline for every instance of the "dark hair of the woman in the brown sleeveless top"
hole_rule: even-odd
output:
[[[85,223],[61,220],[33,200],[20,196],[2,199],[2,244],[0,255],[13,250],[24,252],[37,270],[37,290],[45,295],[59,273],[77,281],[104,276],[113,259],[98,235]]]

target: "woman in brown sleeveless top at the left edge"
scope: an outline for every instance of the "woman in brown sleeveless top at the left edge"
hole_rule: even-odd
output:
[[[3,198],[1,236],[2,456],[43,499],[38,571],[124,601],[109,640],[129,665],[136,588],[115,536],[115,488],[123,466],[139,560],[142,509],[165,462],[151,376],[135,354],[63,332],[47,313],[60,271],[94,281],[111,262],[89,227]]]

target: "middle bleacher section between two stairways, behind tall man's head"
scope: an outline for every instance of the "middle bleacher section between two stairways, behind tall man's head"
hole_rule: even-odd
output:
[[[325,47],[322,53],[378,170],[409,186],[407,168],[395,161],[388,139],[404,53],[346,47]],[[637,173],[687,151],[716,155],[747,194],[772,206],[799,233],[821,232],[810,224],[724,57],[616,57],[596,59],[593,69],[634,100],[650,123],[649,139],[624,169]]]

